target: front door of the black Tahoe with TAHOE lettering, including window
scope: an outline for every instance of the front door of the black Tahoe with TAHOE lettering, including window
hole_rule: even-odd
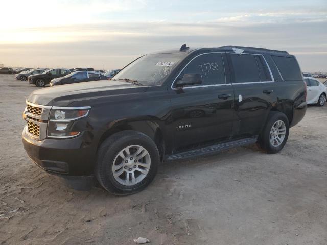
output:
[[[182,88],[172,85],[171,132],[175,151],[229,139],[234,92],[232,85],[226,83],[224,59],[226,55],[222,53],[197,55],[177,79],[184,74],[201,74],[202,84]]]

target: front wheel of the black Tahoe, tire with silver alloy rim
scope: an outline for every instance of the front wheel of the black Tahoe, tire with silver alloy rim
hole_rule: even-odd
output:
[[[134,147],[136,153],[132,152]],[[142,148],[146,151],[137,154]],[[125,149],[129,149],[130,155],[126,154]],[[146,156],[138,159],[137,156],[146,153]],[[159,159],[158,148],[150,137],[137,131],[125,130],[113,134],[101,144],[95,175],[103,188],[114,195],[134,194],[151,183],[157,173]],[[134,164],[137,164],[136,168]],[[141,174],[138,169],[147,171],[147,174]],[[135,184],[132,183],[133,176]]]

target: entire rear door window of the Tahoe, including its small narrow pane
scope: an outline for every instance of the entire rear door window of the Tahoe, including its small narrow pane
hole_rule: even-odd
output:
[[[233,83],[272,81],[261,55],[230,54],[233,67]]]

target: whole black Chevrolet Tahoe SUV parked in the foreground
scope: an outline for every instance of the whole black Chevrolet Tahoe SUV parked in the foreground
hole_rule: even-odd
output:
[[[131,194],[160,161],[253,143],[277,153],[306,109],[293,55],[183,45],[144,55],[107,82],[34,91],[22,139],[49,173],[70,183],[95,176],[109,192]]]

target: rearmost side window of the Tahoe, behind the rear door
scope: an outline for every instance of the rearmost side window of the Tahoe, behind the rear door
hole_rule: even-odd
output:
[[[303,80],[300,67],[295,58],[271,56],[284,81]]]

